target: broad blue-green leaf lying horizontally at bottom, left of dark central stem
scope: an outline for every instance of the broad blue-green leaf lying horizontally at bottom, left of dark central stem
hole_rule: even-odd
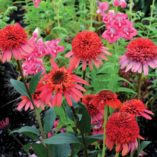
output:
[[[71,144],[79,143],[76,136],[70,133],[60,133],[43,141],[45,144]]]

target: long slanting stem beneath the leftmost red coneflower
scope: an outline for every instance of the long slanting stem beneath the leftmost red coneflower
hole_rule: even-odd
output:
[[[23,81],[23,83],[24,83],[24,85],[25,85],[27,94],[28,94],[28,96],[29,96],[29,98],[30,98],[30,101],[31,101],[31,103],[32,103],[32,105],[33,105],[33,107],[34,107],[34,109],[35,109],[35,116],[36,116],[36,120],[37,120],[38,125],[39,125],[39,130],[40,130],[42,139],[44,139],[44,138],[46,138],[46,135],[45,135],[45,133],[44,133],[44,129],[43,129],[43,126],[42,126],[40,113],[38,112],[38,109],[37,109],[36,106],[35,106],[35,103],[34,103],[34,101],[33,101],[32,95],[31,95],[31,93],[30,93],[30,91],[29,91],[29,88],[28,88],[28,86],[27,86],[27,82],[26,82],[25,77],[24,77],[24,75],[23,75],[23,70],[22,70],[20,61],[17,61],[17,65],[18,65],[18,68],[19,68],[19,71],[20,71],[20,75],[21,75],[21,77],[22,77],[22,81]]]

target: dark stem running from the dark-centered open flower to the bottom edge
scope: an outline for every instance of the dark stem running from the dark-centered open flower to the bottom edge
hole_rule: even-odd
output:
[[[84,145],[84,157],[88,157],[88,151],[87,151],[87,145],[86,145],[86,140],[85,140],[84,133],[83,133],[82,129],[78,126],[78,117],[77,117],[77,114],[75,112],[74,107],[72,106],[71,109],[72,109],[72,112],[73,112],[73,115],[74,115],[74,118],[75,118],[75,121],[76,121],[75,122],[76,127],[79,129],[79,131],[81,133],[82,142],[83,142],[83,145]]]

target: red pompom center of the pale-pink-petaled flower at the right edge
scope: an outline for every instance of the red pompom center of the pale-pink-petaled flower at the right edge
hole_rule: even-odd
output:
[[[157,46],[150,39],[137,38],[128,44],[126,56],[145,63],[157,57]]]

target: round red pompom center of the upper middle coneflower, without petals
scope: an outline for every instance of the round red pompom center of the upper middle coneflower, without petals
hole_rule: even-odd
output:
[[[99,36],[91,31],[83,31],[72,41],[72,51],[80,59],[90,60],[102,52],[102,42]]]

